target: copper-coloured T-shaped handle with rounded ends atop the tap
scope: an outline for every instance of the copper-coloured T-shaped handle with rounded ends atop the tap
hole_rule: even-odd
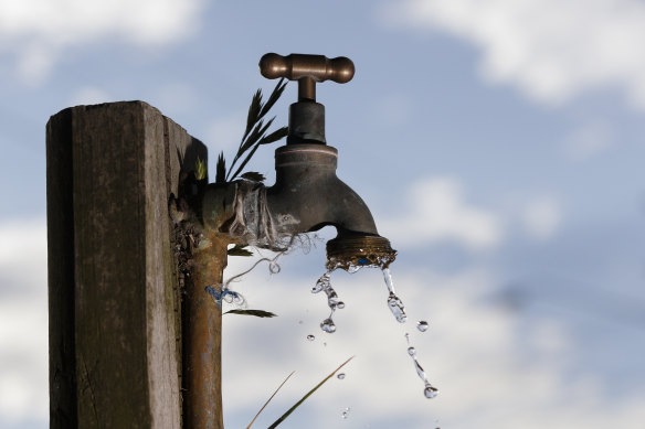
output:
[[[269,53],[260,60],[260,73],[268,79],[285,77],[298,81],[299,100],[316,100],[316,83],[334,81],[345,84],[353,77],[351,60],[339,56],[290,54],[287,56]]]

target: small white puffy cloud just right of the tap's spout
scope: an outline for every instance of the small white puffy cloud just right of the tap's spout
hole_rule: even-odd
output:
[[[408,205],[395,217],[379,218],[379,227],[401,246],[456,242],[470,249],[495,247],[501,240],[500,219],[469,205],[454,179],[431,178],[414,183]]]

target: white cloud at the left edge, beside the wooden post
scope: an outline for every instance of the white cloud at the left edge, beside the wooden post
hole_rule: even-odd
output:
[[[0,423],[46,422],[45,221],[0,223]]]

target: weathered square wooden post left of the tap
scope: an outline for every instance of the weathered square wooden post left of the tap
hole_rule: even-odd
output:
[[[68,108],[46,132],[51,428],[180,428],[168,201],[205,147],[141,101]]]

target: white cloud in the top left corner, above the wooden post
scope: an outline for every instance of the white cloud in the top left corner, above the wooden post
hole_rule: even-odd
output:
[[[0,0],[0,51],[29,84],[46,78],[61,51],[120,39],[162,46],[192,34],[203,0]]]

